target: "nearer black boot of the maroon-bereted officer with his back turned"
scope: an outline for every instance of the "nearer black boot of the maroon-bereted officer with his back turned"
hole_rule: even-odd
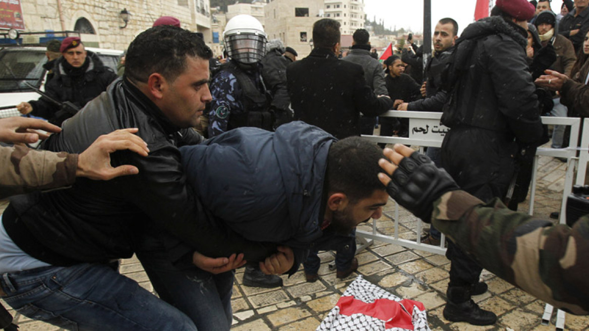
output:
[[[444,307],[444,318],[450,322],[466,322],[472,325],[493,325],[497,315],[481,309],[471,299],[471,286],[452,286],[446,291],[448,302]]]

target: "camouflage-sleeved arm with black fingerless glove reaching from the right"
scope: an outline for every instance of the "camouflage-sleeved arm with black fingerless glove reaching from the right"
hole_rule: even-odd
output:
[[[379,178],[399,204],[412,212],[420,208],[432,211],[436,229],[507,282],[559,309],[578,315],[589,313],[587,216],[571,229],[511,211],[499,199],[485,204],[465,191],[444,187],[447,174],[429,167],[431,160],[423,158],[425,155],[399,144],[394,150],[385,148],[383,153],[392,163],[382,159],[379,164],[392,180],[383,173]],[[423,162],[408,162],[417,159]],[[405,191],[419,196],[416,193],[420,190],[423,196],[435,200],[424,197],[423,204],[406,203]]]

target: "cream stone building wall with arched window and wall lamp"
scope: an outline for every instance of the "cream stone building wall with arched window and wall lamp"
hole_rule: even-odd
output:
[[[207,44],[213,38],[209,0],[22,0],[21,6],[23,32],[77,30],[90,47],[126,49],[164,15],[180,19],[183,28],[203,32]],[[125,28],[123,9],[131,14]],[[38,42],[39,36],[24,35],[24,42],[34,43],[35,38]]]

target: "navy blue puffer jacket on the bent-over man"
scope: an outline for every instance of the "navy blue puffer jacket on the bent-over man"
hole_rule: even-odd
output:
[[[301,254],[322,235],[322,191],[334,141],[297,121],[275,133],[237,128],[180,152],[187,182],[211,214],[246,239],[292,247],[302,262]]]

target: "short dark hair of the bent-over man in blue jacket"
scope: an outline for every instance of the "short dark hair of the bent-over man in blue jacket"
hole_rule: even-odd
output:
[[[327,154],[327,191],[346,194],[350,202],[372,196],[375,190],[385,190],[378,173],[382,150],[365,138],[349,137],[333,143]]]

